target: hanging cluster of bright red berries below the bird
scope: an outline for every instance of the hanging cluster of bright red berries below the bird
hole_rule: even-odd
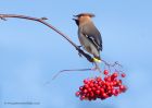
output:
[[[76,96],[80,100],[96,100],[97,98],[105,99],[126,92],[127,87],[118,79],[119,74],[117,72],[109,74],[109,71],[104,70],[103,73],[105,75],[103,80],[101,76],[84,80],[84,85],[76,92]],[[121,76],[125,77],[126,75],[122,73]]]

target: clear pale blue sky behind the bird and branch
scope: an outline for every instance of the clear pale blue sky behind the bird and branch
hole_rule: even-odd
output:
[[[91,12],[103,38],[101,57],[119,61],[126,70],[128,91],[106,100],[80,101],[75,92],[96,72],[64,73],[63,69],[92,68],[59,34],[31,21],[0,21],[1,108],[152,108],[152,1],[151,0],[1,0],[0,13],[48,17],[48,22],[76,44],[74,14]],[[4,105],[33,101],[39,105]]]

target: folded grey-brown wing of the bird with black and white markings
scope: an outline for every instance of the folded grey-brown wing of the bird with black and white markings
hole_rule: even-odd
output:
[[[101,34],[92,23],[84,25],[83,34],[98,48],[98,50],[102,51]]]

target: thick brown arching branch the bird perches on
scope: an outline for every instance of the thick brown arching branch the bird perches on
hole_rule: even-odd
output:
[[[0,19],[3,21],[7,21],[7,17],[16,17],[16,19],[24,19],[24,20],[30,20],[30,21],[36,21],[39,22],[46,26],[48,26],[49,28],[55,31],[58,34],[60,34],[62,37],[64,37],[73,47],[76,48],[76,50],[83,55],[89,62],[93,62],[91,56],[89,56],[88,53],[86,53],[84,50],[81,50],[75,43],[72,41],[72,39],[63,34],[61,31],[59,31],[58,28],[55,28],[54,26],[52,26],[51,24],[47,23],[46,20],[48,20],[47,17],[31,17],[31,16],[26,16],[26,15],[18,15],[18,14],[0,14]]]

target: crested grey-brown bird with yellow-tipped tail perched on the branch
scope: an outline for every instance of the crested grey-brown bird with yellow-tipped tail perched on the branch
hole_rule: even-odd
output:
[[[91,21],[94,14],[80,13],[74,16],[75,19],[73,20],[78,26],[78,38],[81,46],[93,56],[94,62],[101,62],[100,51],[102,51],[102,38],[100,32]]]

